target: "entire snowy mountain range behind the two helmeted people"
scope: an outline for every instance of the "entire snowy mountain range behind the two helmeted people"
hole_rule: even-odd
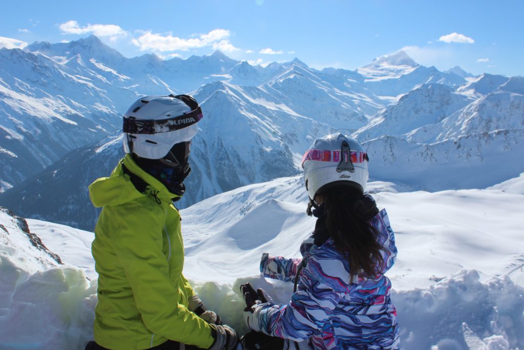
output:
[[[0,62],[0,192],[14,186],[0,205],[83,229],[97,217],[87,186],[123,156],[121,114],[141,94],[192,91],[204,111],[180,207],[298,174],[304,150],[335,130],[364,143],[373,179],[415,189],[484,188],[523,171],[509,164],[522,154],[523,78],[440,72],[402,51],[319,71],[219,51],[128,59],[92,36],[2,49]]]

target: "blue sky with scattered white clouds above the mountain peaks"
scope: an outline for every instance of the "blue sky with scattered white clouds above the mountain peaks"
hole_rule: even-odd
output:
[[[524,1],[4,2],[0,46],[95,34],[124,56],[227,56],[355,69],[404,49],[424,66],[524,75]]]

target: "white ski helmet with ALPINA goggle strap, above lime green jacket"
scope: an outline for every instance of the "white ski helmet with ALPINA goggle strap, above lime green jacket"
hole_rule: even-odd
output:
[[[189,95],[140,98],[124,114],[124,151],[160,159],[174,144],[190,141],[202,118],[198,102]]]

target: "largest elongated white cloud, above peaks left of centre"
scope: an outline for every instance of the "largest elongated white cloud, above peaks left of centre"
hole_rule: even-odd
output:
[[[192,36],[189,39],[182,39],[179,37],[161,34],[154,34],[150,31],[142,34],[138,39],[133,39],[131,42],[138,46],[140,51],[156,50],[156,51],[188,51],[190,49],[202,48],[211,46],[215,50],[222,50],[232,52],[239,50],[230,43],[229,37],[231,33],[226,29],[213,29],[208,34],[201,34],[200,36]]]

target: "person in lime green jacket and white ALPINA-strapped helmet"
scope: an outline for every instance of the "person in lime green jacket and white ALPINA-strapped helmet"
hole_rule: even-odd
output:
[[[102,207],[92,253],[99,273],[86,349],[241,348],[182,273],[180,214],[191,138],[202,119],[188,95],[146,96],[124,115],[125,157],[89,186]]]

